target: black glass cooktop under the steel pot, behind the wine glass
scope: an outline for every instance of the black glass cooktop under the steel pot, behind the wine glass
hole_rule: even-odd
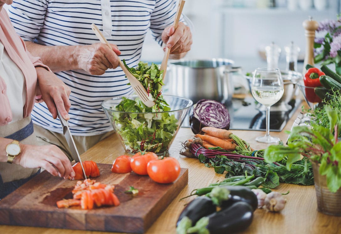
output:
[[[231,102],[224,104],[231,118],[231,130],[266,130],[265,108],[257,103],[253,97],[246,97],[244,99],[233,98]],[[283,109],[276,108],[276,106],[270,108],[270,131],[282,131],[297,108],[301,108],[300,99],[292,99],[287,104],[287,108],[284,111]],[[191,113],[192,110],[190,111]],[[190,127],[189,117],[183,121],[182,127]]]

